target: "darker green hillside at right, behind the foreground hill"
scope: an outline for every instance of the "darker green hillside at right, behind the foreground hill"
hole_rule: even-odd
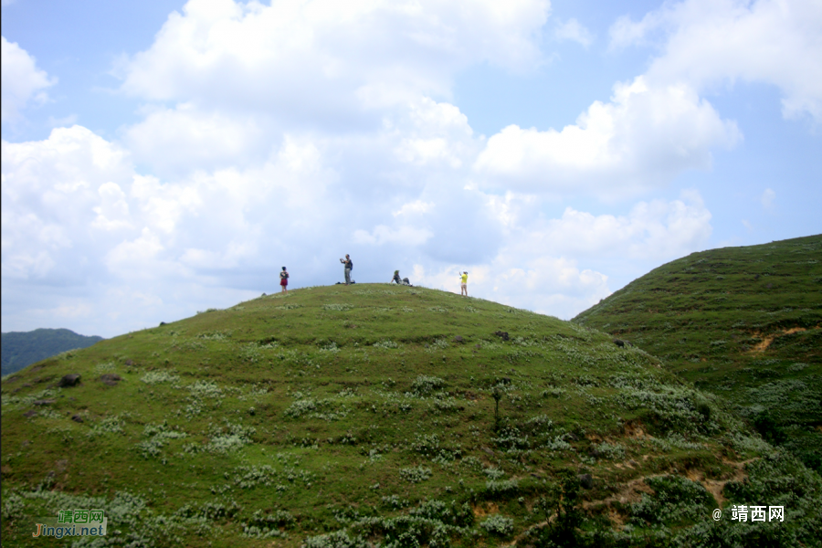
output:
[[[659,356],[822,473],[822,236],[693,253],[574,321]]]

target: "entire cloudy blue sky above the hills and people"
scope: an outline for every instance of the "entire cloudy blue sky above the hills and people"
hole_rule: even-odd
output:
[[[571,318],[822,232],[815,0],[3,1],[2,329],[412,282]]]

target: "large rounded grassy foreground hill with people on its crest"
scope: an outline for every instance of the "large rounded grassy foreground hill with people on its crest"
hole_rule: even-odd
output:
[[[79,385],[58,387],[66,374]],[[64,545],[34,522],[85,508],[118,546],[822,538],[822,481],[722,398],[604,333],[437,290],[204,311],[6,376],[2,404],[15,546]],[[785,521],[732,522],[731,504]]]

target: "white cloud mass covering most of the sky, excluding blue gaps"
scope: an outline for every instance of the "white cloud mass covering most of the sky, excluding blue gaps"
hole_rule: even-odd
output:
[[[659,47],[646,73],[564,128],[486,137],[453,81],[482,63],[542,67],[547,1],[192,0],[118,63],[139,121],[116,138],[72,125],[3,141],[4,331],[70,318],[113,335],[276,290],[281,266],[296,287],[333,283],[345,253],[361,282],[400,269],[457,290],[467,269],[473,295],[571,317],[616,289],[626,259],[643,269],[706,245],[700,193],[657,196],[743,138],[711,85],[766,81],[786,115],[818,117],[817,11],[689,0],[620,19],[612,48]],[[552,28],[594,43],[575,19]],[[706,35],[722,54],[707,57]],[[758,49],[743,62],[731,37],[781,46],[754,67]],[[3,55],[5,121],[56,79],[5,38]],[[8,86],[6,56],[22,75]]]

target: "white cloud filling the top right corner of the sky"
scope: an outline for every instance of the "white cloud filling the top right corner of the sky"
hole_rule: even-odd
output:
[[[783,93],[786,117],[822,121],[822,4],[817,0],[684,0],[640,21],[621,17],[611,46],[660,43],[648,78],[697,90],[737,79]]]

